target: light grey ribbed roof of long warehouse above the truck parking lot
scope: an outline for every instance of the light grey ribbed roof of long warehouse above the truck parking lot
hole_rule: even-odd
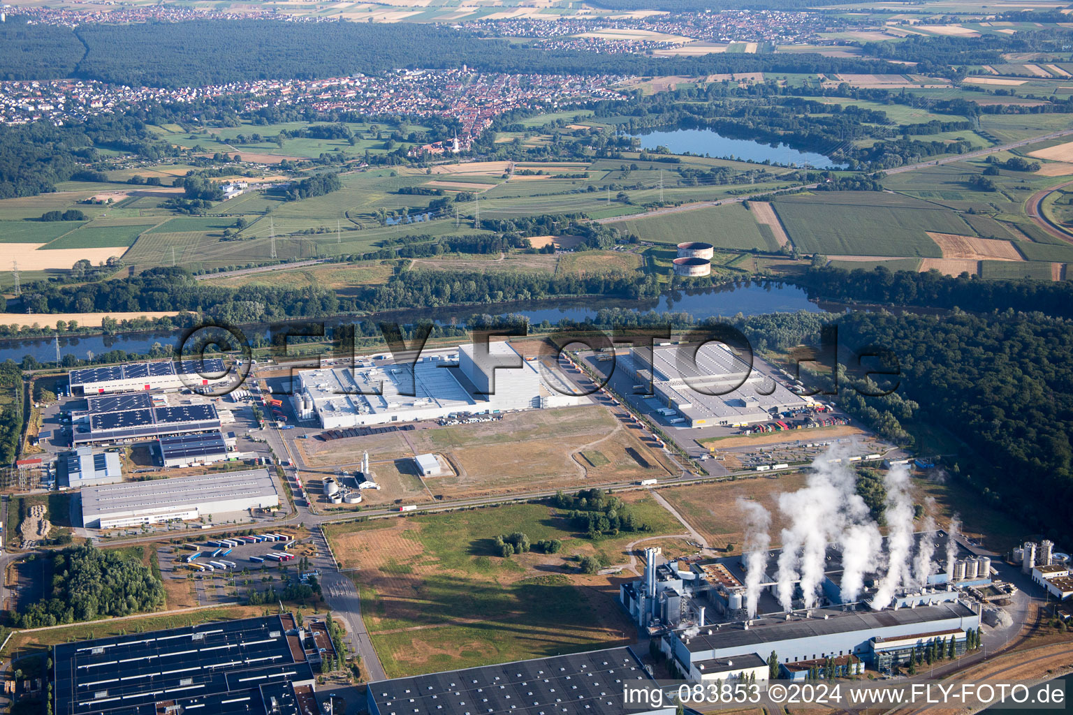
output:
[[[267,470],[195,474],[171,479],[88,487],[82,491],[82,515],[88,524],[102,515],[147,509],[179,510],[200,504],[276,493],[276,485]]]

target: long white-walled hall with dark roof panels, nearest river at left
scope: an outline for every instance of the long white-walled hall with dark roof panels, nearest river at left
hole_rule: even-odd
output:
[[[225,371],[223,360],[207,358],[83,368],[72,370],[69,378],[71,394],[98,394],[205,388],[225,379]]]

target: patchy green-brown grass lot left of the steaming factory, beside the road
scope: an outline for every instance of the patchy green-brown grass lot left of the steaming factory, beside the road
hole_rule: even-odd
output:
[[[628,542],[680,533],[644,493],[622,498],[651,531],[591,541],[544,504],[488,507],[325,527],[363,597],[365,626],[389,677],[631,642],[620,580],[584,576],[583,555],[628,562]],[[503,557],[495,537],[559,539],[556,554]],[[627,574],[635,578],[632,574]]]

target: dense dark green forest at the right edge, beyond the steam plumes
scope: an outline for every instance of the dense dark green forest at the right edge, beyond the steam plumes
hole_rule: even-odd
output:
[[[914,420],[953,433],[950,472],[993,505],[1069,541],[1073,519],[1073,325],[1042,313],[943,316],[854,312],[838,323],[847,345],[898,357],[897,393]],[[899,420],[900,421],[900,420]]]

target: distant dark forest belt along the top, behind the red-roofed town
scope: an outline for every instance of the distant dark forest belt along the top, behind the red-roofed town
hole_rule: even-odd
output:
[[[897,72],[873,59],[821,55],[643,55],[545,50],[473,32],[412,23],[280,23],[190,20],[82,25],[58,34],[21,26],[6,35],[0,76],[83,79],[149,87],[186,87],[256,79],[313,79],[400,68],[541,74],[680,74],[731,72]],[[42,53],[62,61],[42,62]],[[85,53],[72,66],[70,57]]]

